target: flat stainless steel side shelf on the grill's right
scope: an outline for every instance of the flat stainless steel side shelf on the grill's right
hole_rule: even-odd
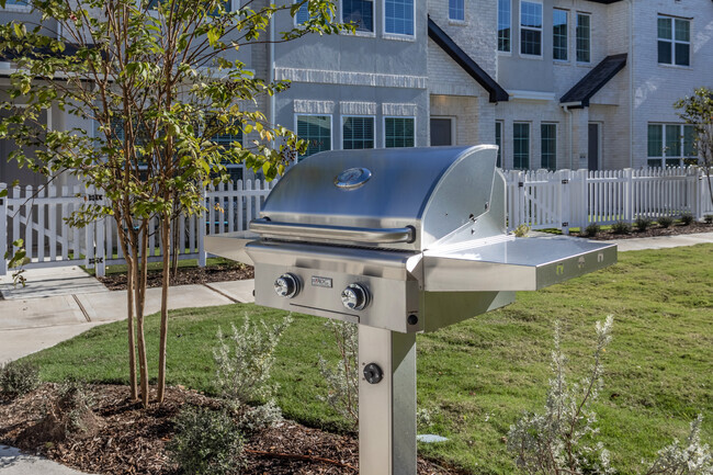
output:
[[[616,246],[522,238],[459,252],[427,251],[427,292],[536,291],[616,263]]]

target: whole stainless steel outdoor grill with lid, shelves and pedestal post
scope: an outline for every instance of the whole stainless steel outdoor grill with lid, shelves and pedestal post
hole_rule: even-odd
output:
[[[256,303],[359,324],[360,473],[416,473],[416,333],[616,261],[616,247],[507,234],[495,146],[339,150],[292,167],[250,233]]]

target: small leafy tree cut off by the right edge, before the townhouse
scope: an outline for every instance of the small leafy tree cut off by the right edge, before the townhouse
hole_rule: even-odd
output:
[[[680,109],[679,116],[691,124],[695,131],[695,144],[699,158],[708,176],[708,191],[713,204],[713,90],[699,88],[693,95],[676,101],[676,109]]]

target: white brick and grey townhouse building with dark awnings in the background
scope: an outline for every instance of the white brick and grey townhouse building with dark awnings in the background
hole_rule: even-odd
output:
[[[0,21],[32,20],[22,3],[9,0]],[[306,14],[276,15],[268,34]],[[710,0],[339,0],[337,15],[356,32],[230,53],[259,77],[292,81],[258,106],[308,140],[305,156],[495,143],[506,169],[695,161],[672,104],[713,87]],[[11,68],[0,58],[0,93]],[[54,110],[45,120],[93,127]],[[0,142],[0,182],[39,183],[7,163],[13,146]]]

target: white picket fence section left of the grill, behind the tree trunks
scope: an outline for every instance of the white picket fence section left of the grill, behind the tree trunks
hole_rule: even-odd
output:
[[[274,182],[240,180],[206,190],[207,212],[177,219],[179,257],[197,259],[200,265],[205,265],[204,236],[247,229],[248,223],[259,215],[273,185]],[[0,183],[0,189],[4,188]],[[82,229],[65,222],[83,203],[102,203],[103,200],[101,193],[81,185],[48,185],[41,190],[12,188],[7,197],[0,197],[0,275],[8,272],[8,261],[2,257],[18,239],[24,240],[30,259],[25,269],[87,265],[95,268],[98,275],[104,275],[107,264],[125,263],[116,222],[112,217],[98,219]],[[146,250],[149,261],[161,259],[159,226],[158,218],[149,222]]]

